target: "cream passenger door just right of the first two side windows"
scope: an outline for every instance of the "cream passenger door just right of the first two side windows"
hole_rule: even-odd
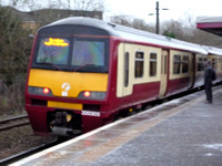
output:
[[[162,50],[159,98],[165,95],[167,85],[168,85],[168,50]]]

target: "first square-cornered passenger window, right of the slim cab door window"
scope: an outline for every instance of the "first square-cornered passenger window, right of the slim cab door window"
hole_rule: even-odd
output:
[[[144,53],[143,52],[135,52],[135,77],[143,76],[143,66],[144,66]]]

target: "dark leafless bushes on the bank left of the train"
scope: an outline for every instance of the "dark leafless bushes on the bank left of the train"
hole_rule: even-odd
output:
[[[11,8],[0,7],[0,115],[23,111],[29,34]]]

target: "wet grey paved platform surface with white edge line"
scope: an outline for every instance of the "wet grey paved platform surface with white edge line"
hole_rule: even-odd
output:
[[[120,120],[12,165],[222,166],[222,86]]]

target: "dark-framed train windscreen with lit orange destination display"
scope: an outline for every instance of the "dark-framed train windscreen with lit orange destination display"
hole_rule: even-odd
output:
[[[107,73],[107,48],[103,39],[40,38],[32,68]]]

